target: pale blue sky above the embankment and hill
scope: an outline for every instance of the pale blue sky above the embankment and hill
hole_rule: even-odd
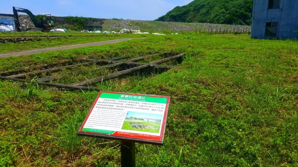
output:
[[[0,13],[12,14],[12,6],[33,14],[55,16],[154,20],[176,6],[193,0],[2,0]]]

